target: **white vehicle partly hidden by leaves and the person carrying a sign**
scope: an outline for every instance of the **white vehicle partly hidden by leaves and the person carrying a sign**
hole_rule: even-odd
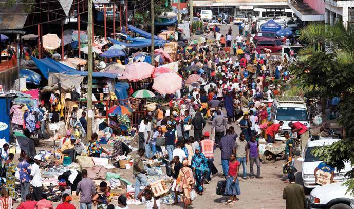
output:
[[[301,161],[302,167],[302,178],[304,182],[304,186],[306,188],[315,188],[319,187],[320,185],[316,184],[315,177],[314,177],[314,169],[322,162],[319,158],[314,157],[312,155],[312,150],[314,147],[319,146],[327,146],[331,145],[334,142],[338,142],[340,139],[332,139],[332,138],[325,138],[320,140],[309,141],[306,147],[303,150],[304,157],[300,157],[297,160]],[[342,182],[346,178],[344,174],[351,170],[350,162],[344,162],[344,169],[338,173],[336,170],[334,171],[334,178],[333,181]]]

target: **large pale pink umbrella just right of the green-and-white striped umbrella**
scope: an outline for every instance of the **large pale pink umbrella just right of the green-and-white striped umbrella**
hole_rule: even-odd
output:
[[[182,88],[182,78],[176,73],[163,73],[154,79],[153,89],[161,94],[171,94],[180,88]]]

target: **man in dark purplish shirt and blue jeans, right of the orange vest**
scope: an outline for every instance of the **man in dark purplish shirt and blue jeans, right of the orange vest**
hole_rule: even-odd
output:
[[[222,164],[222,172],[226,177],[229,172],[229,161],[230,156],[233,153],[236,153],[236,144],[235,138],[230,133],[229,129],[226,130],[226,135],[221,138],[219,143],[219,148],[221,150],[221,164]]]

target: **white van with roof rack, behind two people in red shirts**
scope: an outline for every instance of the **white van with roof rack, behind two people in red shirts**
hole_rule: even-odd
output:
[[[310,129],[306,103],[303,98],[297,96],[278,96],[271,106],[271,120],[273,123],[283,121],[283,131],[275,135],[275,140],[284,140],[284,131],[290,131],[290,122],[301,122]]]

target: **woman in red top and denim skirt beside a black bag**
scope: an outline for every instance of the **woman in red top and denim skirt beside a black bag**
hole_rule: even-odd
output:
[[[229,173],[226,178],[225,195],[230,196],[228,204],[236,202],[236,195],[240,195],[240,187],[237,179],[239,162],[236,160],[236,154],[231,154],[229,161]]]

